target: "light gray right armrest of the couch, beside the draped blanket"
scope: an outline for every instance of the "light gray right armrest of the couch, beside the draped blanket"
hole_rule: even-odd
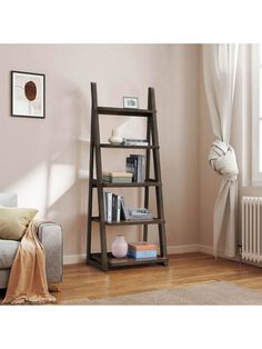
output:
[[[41,223],[38,229],[38,238],[46,251],[48,282],[61,282],[63,268],[62,228],[52,222]]]

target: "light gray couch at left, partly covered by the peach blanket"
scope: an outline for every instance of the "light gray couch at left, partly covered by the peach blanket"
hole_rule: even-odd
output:
[[[17,207],[17,195],[0,192],[0,206]],[[42,223],[38,238],[46,250],[48,282],[62,281],[62,229],[57,223]],[[0,288],[7,288],[10,268],[20,241],[0,239]]]

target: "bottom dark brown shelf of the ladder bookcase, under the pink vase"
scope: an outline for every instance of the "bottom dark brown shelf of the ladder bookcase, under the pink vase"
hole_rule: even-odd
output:
[[[101,263],[101,253],[91,253],[90,259],[97,263]],[[162,263],[165,265],[168,262],[168,258],[165,257],[155,257],[155,258],[114,258],[111,252],[108,252],[108,265],[109,268],[118,268],[118,267],[128,267],[128,266],[141,266],[141,265],[155,265]]]

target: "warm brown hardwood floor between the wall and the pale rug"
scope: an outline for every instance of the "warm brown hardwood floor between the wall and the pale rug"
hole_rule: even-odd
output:
[[[169,266],[148,266],[103,272],[85,265],[64,266],[61,302],[174,288],[214,280],[230,281],[262,292],[262,268],[214,259],[203,253],[170,256]]]

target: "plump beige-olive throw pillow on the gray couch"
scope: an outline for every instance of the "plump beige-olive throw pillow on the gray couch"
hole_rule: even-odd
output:
[[[21,240],[38,210],[0,207],[0,239]]]

